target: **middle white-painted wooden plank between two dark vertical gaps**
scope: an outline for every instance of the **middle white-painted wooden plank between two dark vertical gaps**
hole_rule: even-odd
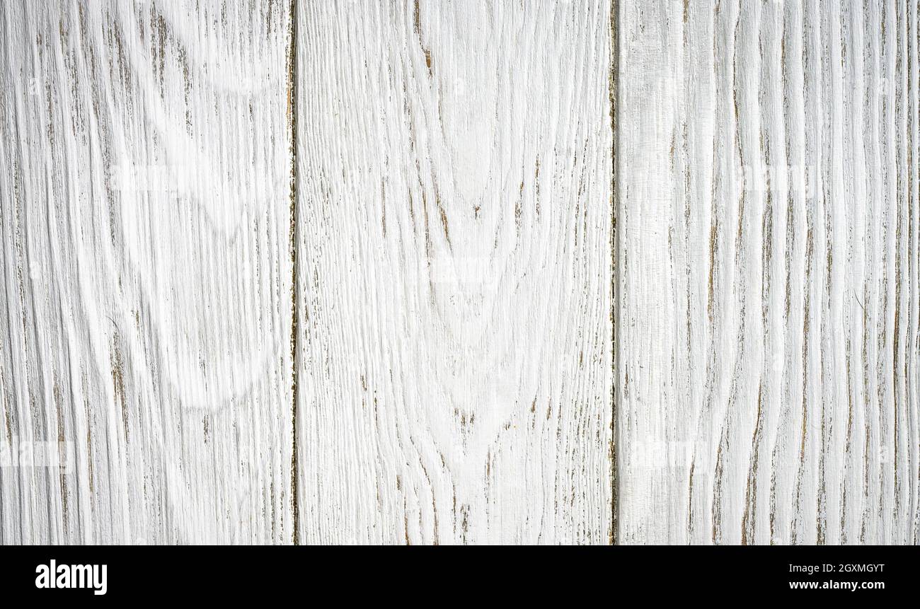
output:
[[[610,21],[299,6],[301,542],[611,541]]]

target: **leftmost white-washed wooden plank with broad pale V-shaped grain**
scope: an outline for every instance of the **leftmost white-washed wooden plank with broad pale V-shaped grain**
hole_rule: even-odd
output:
[[[292,539],[289,21],[0,6],[0,543]]]

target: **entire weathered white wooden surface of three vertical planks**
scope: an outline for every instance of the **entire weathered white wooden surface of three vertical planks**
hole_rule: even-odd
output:
[[[918,45],[0,3],[0,543],[920,542]]]

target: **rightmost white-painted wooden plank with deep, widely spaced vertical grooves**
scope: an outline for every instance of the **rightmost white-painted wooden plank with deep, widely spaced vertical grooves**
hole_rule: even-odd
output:
[[[619,540],[918,543],[917,4],[619,32]]]

